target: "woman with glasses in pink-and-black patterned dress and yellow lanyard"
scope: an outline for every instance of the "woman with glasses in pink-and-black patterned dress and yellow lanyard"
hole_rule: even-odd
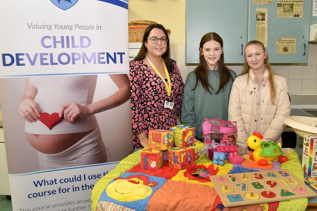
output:
[[[148,146],[151,129],[176,126],[181,115],[184,82],[170,59],[167,32],[160,24],[144,32],[138,55],[130,62],[130,97],[133,146]]]

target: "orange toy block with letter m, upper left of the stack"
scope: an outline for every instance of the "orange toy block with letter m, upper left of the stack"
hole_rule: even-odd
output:
[[[174,143],[174,132],[167,129],[153,129],[149,131],[149,148],[167,150]]]

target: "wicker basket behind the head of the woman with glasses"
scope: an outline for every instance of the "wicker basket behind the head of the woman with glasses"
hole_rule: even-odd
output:
[[[148,20],[135,20],[129,22],[129,42],[142,42],[144,32],[151,24],[157,24],[157,22]],[[170,33],[169,29],[166,31],[167,33]]]

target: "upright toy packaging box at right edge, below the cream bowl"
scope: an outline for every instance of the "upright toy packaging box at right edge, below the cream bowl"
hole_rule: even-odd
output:
[[[305,135],[302,167],[308,175],[317,175],[317,135]]]

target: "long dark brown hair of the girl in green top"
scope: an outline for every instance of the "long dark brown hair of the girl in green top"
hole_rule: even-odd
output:
[[[202,86],[204,87],[204,89],[206,91],[208,91],[210,94],[212,94],[211,90],[213,90],[213,87],[211,86],[211,84],[209,83],[209,80],[208,80],[208,64],[204,58],[204,55],[202,55],[202,49],[203,49],[203,45],[206,42],[209,42],[212,40],[219,42],[221,47],[223,47],[223,41],[222,41],[221,37],[215,32],[207,33],[206,35],[204,35],[202,37],[200,44],[199,44],[199,64],[198,64],[197,68],[194,70],[195,74],[197,76],[196,85],[192,89],[192,90],[194,90],[197,87],[198,81],[200,81],[202,83]],[[217,91],[215,92],[215,94],[218,94],[220,91],[224,91],[226,89],[226,85],[230,79],[233,81],[233,77],[230,74],[230,70],[224,65],[223,51],[222,51],[222,54],[220,55],[220,58],[219,58],[219,61],[217,62],[217,65],[218,65],[218,70],[219,70],[220,82],[219,82],[219,87],[218,87]]]

